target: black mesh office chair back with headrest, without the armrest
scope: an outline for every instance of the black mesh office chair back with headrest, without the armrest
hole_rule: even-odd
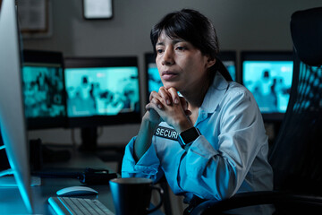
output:
[[[275,190],[322,194],[322,7],[293,13],[291,34],[291,95],[269,161]]]

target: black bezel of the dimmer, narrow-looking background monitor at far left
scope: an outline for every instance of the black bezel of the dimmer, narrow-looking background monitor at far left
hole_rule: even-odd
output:
[[[64,83],[64,56],[62,52],[24,49],[22,53],[23,64],[60,64],[62,66]],[[63,84],[64,85],[64,84]],[[65,116],[55,117],[27,117],[28,130],[66,128],[67,127],[67,107],[66,90],[64,86],[63,102]]]

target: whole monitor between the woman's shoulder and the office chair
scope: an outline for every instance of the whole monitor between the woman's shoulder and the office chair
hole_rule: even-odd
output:
[[[292,85],[292,52],[243,51],[242,84],[254,95],[265,121],[282,121]]]

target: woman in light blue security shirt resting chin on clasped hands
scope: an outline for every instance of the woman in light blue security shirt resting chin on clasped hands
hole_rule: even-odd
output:
[[[250,91],[231,82],[216,58],[212,23],[185,9],[167,14],[150,37],[164,86],[151,92],[126,147],[123,177],[165,175],[188,203],[271,190],[262,117]]]

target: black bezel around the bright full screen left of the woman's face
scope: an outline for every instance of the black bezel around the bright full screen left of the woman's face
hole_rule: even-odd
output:
[[[140,94],[140,69],[137,56],[67,56],[64,57],[65,69],[86,67],[118,67],[135,66],[138,68],[138,82]],[[66,70],[65,70],[66,73]],[[139,95],[139,103],[140,103]],[[68,106],[68,104],[67,104]],[[139,108],[140,109],[140,108]],[[140,111],[131,113],[120,113],[116,116],[68,116],[69,128],[86,128],[106,125],[140,124]]]

